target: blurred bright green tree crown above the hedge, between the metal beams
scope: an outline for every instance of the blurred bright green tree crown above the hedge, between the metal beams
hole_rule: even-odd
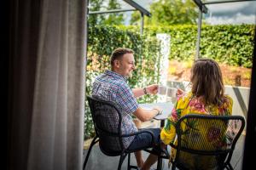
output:
[[[145,18],[145,26],[170,26],[177,24],[195,24],[197,8],[191,0],[159,0],[150,5],[151,18]],[[131,24],[139,22],[138,13],[131,16]]]

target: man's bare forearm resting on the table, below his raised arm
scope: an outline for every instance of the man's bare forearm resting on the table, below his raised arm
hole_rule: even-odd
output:
[[[133,115],[137,116],[137,118],[141,122],[147,122],[150,121],[154,116],[160,113],[162,111],[160,107],[155,107],[152,110],[145,110],[141,107],[138,107],[136,111],[134,111]]]

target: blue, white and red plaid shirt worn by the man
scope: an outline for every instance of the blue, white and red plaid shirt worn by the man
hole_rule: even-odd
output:
[[[122,113],[123,121],[121,131],[123,134],[137,132],[137,127],[132,121],[131,114],[137,110],[137,99],[128,86],[125,77],[113,71],[105,71],[101,76],[96,77],[92,87],[92,96],[116,103]],[[103,114],[103,113],[102,113]],[[110,131],[115,132],[118,125],[117,117],[112,117],[108,126]],[[113,129],[111,129],[113,128]],[[123,138],[125,148],[131,144],[134,136]],[[109,141],[114,142],[114,141]]]

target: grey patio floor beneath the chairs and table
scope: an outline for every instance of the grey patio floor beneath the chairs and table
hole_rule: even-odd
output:
[[[157,122],[149,122],[149,127],[159,127]],[[144,125],[148,127],[147,125]],[[236,149],[233,153],[231,159],[231,165],[234,167],[235,170],[241,170],[242,167],[242,154],[243,154],[243,147],[244,147],[244,139],[245,134],[242,133],[240,139],[238,139],[236,144]],[[87,144],[88,145],[88,144]],[[88,150],[84,150],[84,158],[87,154]],[[148,153],[143,151],[143,158],[146,160],[148,157]],[[168,168],[168,160],[163,161],[163,169],[167,170]],[[86,170],[114,170],[117,169],[119,163],[119,156],[105,156],[102,151],[99,149],[98,144],[92,148],[90,152],[90,157],[86,165]],[[156,169],[156,164],[154,164],[154,168]],[[131,154],[131,165],[137,165],[134,154]],[[123,162],[122,169],[127,169],[127,157]]]

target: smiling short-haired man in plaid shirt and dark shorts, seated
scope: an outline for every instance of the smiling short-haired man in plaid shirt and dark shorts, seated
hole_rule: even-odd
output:
[[[111,56],[111,71],[105,71],[100,77],[96,77],[93,83],[92,96],[108,101],[112,101],[119,106],[123,114],[122,132],[137,132],[137,127],[132,121],[131,116],[146,122],[160,113],[161,109],[156,107],[152,110],[144,110],[137,104],[137,99],[144,94],[156,94],[158,85],[150,85],[146,88],[131,89],[127,84],[127,78],[131,77],[135,70],[134,52],[129,48],[117,48]],[[114,121],[114,120],[113,120]],[[154,141],[160,144],[160,128],[148,129],[154,133]],[[124,138],[123,143],[128,150],[136,150],[145,146],[152,145],[152,137],[149,133]],[[150,154],[147,161],[143,161],[141,151],[135,153],[137,167],[149,169],[157,160],[157,156]]]

